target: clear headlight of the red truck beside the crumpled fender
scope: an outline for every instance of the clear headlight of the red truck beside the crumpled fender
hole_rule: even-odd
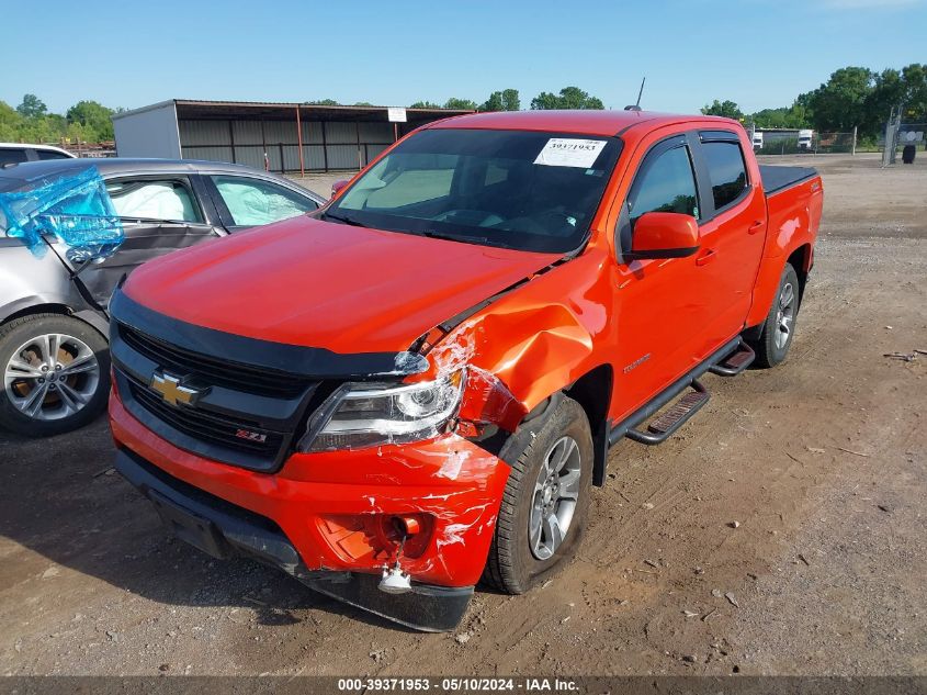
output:
[[[438,435],[457,411],[462,371],[412,384],[347,383],[309,421],[301,451],[418,441]]]

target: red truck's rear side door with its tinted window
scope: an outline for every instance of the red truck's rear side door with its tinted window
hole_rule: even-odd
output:
[[[750,180],[738,134],[700,131],[689,136],[699,187],[704,191],[690,291],[711,306],[696,357],[704,357],[743,330],[766,236],[766,197]]]

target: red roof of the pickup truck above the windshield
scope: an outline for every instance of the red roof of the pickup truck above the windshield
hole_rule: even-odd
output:
[[[491,128],[500,131],[550,131],[587,135],[618,135],[630,127],[647,123],[649,127],[686,121],[715,121],[719,125],[739,125],[731,119],[705,115],[680,115],[654,111],[494,111],[472,113],[437,121],[428,128]]]

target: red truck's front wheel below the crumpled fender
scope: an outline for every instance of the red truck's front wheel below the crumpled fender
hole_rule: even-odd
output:
[[[530,427],[531,436],[525,438],[528,445],[519,452],[506,484],[483,575],[486,584],[508,594],[523,594],[575,554],[591,496],[592,435],[580,405],[564,396],[522,427]],[[509,442],[525,439],[515,435]],[[507,460],[513,459],[505,448],[501,455]],[[556,480],[558,487],[546,487],[553,494],[550,497],[552,506],[545,507],[543,502],[547,493],[544,485],[551,470],[549,461],[554,464],[552,468],[563,461],[563,468]],[[575,484],[564,482],[574,478]],[[540,491],[535,484],[541,485]],[[570,501],[568,496],[574,492],[576,498]],[[541,506],[535,508],[535,502],[542,503]],[[551,513],[545,517],[549,508]],[[556,524],[550,520],[552,517],[557,519]],[[563,522],[566,517],[568,522]],[[534,522],[538,528],[539,520],[543,529],[540,536],[530,531],[531,524]],[[545,538],[551,540],[553,527],[562,528],[561,523],[566,527],[562,541],[545,545]]]

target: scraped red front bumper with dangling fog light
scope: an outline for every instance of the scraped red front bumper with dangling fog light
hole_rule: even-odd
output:
[[[451,629],[479,580],[509,467],[445,435],[417,445],[292,455],[276,473],[211,461],[158,437],[113,393],[117,468],[181,538],[246,554],[399,623]],[[185,516],[184,516],[185,515]],[[371,522],[418,515],[427,539],[400,558],[409,594],[376,591],[395,546]],[[374,525],[375,526],[375,525]]]

